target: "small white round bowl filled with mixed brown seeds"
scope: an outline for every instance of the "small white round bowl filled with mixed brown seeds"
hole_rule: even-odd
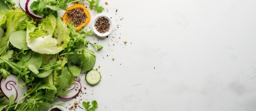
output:
[[[107,15],[97,15],[92,22],[92,30],[99,37],[106,37],[112,32],[112,21]]]

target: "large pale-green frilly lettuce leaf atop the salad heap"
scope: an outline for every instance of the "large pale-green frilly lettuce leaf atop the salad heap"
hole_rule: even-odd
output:
[[[36,27],[33,20],[27,21],[27,43],[33,51],[41,54],[56,54],[67,47],[70,29],[61,20],[50,14],[41,19]]]

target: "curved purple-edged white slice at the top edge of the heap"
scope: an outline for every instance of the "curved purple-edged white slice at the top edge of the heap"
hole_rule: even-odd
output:
[[[21,0],[21,2],[25,2],[26,0]],[[34,11],[30,8],[31,4],[34,2],[34,1],[37,1],[37,0],[27,0],[26,2],[26,5],[25,5],[25,12],[28,13],[28,15],[30,15],[31,17],[35,18],[35,19],[42,19],[43,18],[43,15],[36,15],[34,13]],[[21,3],[20,4],[23,4]]]

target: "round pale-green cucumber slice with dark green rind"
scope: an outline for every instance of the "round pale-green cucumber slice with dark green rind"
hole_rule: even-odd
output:
[[[90,85],[96,85],[100,82],[101,75],[100,72],[97,70],[90,70],[86,75],[85,75],[85,80],[90,84]]]

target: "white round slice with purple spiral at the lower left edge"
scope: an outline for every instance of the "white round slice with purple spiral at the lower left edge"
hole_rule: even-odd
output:
[[[24,80],[20,79],[17,81],[17,76],[10,74],[7,76],[7,79],[0,79],[0,91],[2,94],[9,99],[11,95],[14,95],[14,101],[17,102],[21,97],[24,96],[24,93],[27,93],[27,86],[19,86],[24,83]],[[23,100],[22,100],[23,101]]]

